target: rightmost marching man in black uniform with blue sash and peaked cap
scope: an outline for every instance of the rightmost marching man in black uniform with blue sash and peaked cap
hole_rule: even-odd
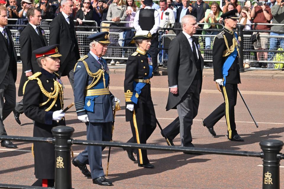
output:
[[[225,28],[213,42],[214,81],[219,84],[225,102],[218,106],[202,122],[208,131],[216,136],[213,126],[225,115],[228,139],[243,141],[238,135],[235,124],[235,105],[237,103],[238,84],[241,83],[238,63],[239,40],[233,29],[237,26],[237,10],[231,10],[221,15]]]

